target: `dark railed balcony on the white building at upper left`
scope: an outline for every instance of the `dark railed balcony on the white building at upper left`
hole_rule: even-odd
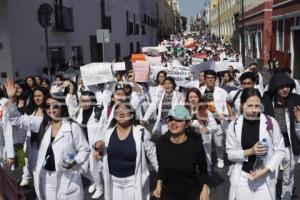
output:
[[[59,32],[74,32],[73,9],[61,5],[54,5],[55,26]]]

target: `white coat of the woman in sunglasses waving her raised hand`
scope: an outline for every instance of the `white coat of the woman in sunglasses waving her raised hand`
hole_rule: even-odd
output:
[[[37,117],[21,115],[16,109],[16,106],[9,108],[9,120],[19,124],[32,132],[39,131],[40,121]],[[41,174],[46,153],[51,139],[51,125],[48,126],[44,134],[43,140],[38,150],[36,167],[33,169],[34,187],[39,200],[43,199]],[[62,167],[64,148],[73,146],[77,152],[75,161],[77,165],[70,170]],[[87,171],[87,159],[89,155],[89,146],[84,138],[80,126],[76,123],[71,123],[63,119],[62,125],[52,143],[52,149],[55,158],[55,168],[57,176],[57,199],[58,200],[73,200],[83,199],[83,187],[81,181],[81,173]]]

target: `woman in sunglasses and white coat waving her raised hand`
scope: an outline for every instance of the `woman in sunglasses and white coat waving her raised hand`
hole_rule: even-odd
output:
[[[64,98],[48,96],[42,123],[34,116],[21,115],[15,105],[16,88],[7,79],[9,121],[37,133],[38,157],[33,170],[39,200],[83,199],[80,172],[89,155],[89,146],[78,124],[66,120]]]

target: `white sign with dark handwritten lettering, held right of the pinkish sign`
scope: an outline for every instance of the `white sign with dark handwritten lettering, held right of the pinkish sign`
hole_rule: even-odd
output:
[[[183,86],[188,81],[187,78],[189,75],[190,71],[188,67],[168,64],[168,76],[175,79],[177,86]]]

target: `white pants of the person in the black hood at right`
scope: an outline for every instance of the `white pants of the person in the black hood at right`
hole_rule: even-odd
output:
[[[286,153],[282,160],[283,180],[282,180],[282,200],[290,200],[292,198],[293,187],[295,183],[295,163],[297,157],[294,157],[291,147],[285,148]]]

